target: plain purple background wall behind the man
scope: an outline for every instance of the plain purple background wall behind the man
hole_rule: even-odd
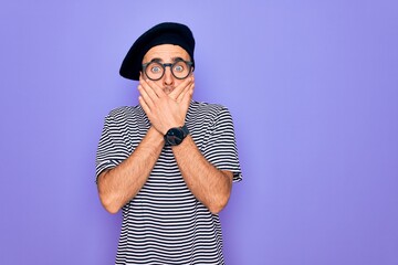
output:
[[[126,51],[163,21],[195,33],[195,98],[234,118],[227,264],[398,264],[397,1],[15,0],[0,15],[0,264],[114,262],[96,145],[137,104]]]

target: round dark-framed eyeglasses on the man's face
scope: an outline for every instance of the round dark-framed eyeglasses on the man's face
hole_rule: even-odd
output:
[[[166,67],[170,67],[171,74],[177,80],[185,80],[191,73],[192,62],[177,60],[174,63],[163,64],[156,61],[143,64],[143,71],[151,81],[160,80],[166,72]]]

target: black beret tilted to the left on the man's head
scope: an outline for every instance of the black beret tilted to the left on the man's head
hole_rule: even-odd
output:
[[[190,29],[185,24],[164,22],[149,29],[134,42],[123,60],[121,75],[128,80],[138,81],[145,54],[153,46],[161,44],[179,45],[187,51],[191,57],[192,66],[195,66],[195,39]]]

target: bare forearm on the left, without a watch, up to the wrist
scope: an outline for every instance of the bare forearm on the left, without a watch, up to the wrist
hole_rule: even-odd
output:
[[[100,174],[100,199],[108,212],[116,213],[139,192],[163,147],[163,136],[150,127],[136,150],[126,160]]]

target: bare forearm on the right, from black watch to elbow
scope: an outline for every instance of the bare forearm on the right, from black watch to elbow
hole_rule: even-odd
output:
[[[190,136],[172,147],[172,151],[189,190],[210,212],[219,213],[231,193],[232,172],[218,170],[208,162]]]

